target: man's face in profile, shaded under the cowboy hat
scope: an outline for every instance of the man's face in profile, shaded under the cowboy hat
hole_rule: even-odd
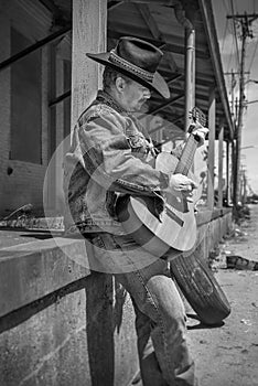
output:
[[[126,82],[122,93],[122,107],[127,111],[139,111],[147,99],[151,97],[149,88],[135,81]]]

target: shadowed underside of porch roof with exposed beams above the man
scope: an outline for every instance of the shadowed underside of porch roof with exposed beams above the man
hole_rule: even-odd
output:
[[[67,23],[72,20],[72,1],[40,0],[54,14]],[[186,10],[186,12],[184,12]],[[154,94],[149,111],[184,129],[184,60],[187,13],[194,15],[195,30],[195,105],[206,115],[211,90],[216,97],[216,136],[224,125],[225,139],[232,140],[234,125],[224,81],[211,0],[108,0],[108,49],[122,35],[144,39],[163,52],[159,72],[166,79],[171,99],[164,101]]]

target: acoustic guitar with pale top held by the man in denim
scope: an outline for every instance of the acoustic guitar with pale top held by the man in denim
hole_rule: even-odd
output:
[[[196,122],[204,128],[206,117],[198,108],[191,111],[192,125],[181,158],[169,152],[161,152],[155,158],[155,169],[164,173],[181,173],[196,181],[191,171],[194,153],[200,138],[191,131]],[[118,200],[117,215],[123,228],[144,249],[155,256],[162,256],[170,249],[170,256],[190,251],[196,242],[196,221],[194,205],[198,192],[190,202],[179,193],[164,193],[162,210],[159,208],[161,196],[126,195]],[[157,203],[159,204],[157,207]]]

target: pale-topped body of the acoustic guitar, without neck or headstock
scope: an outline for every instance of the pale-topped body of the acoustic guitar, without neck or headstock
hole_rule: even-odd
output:
[[[173,173],[178,162],[174,156],[163,152],[157,157],[155,169]],[[191,172],[189,176],[194,178]],[[178,256],[195,245],[194,202],[189,203],[180,193],[165,194],[165,207],[160,216],[155,213],[153,197],[126,197],[118,202],[118,217],[125,229],[154,255],[162,256],[170,249],[170,255]]]

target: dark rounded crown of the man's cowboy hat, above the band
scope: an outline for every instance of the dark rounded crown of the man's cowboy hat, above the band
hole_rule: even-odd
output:
[[[163,56],[162,51],[153,44],[130,36],[120,37],[115,52],[122,60],[152,74]]]

